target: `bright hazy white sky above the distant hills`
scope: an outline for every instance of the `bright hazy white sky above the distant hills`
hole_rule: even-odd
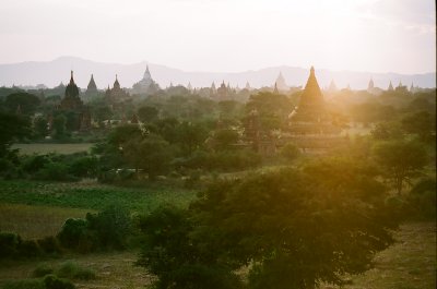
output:
[[[436,71],[434,0],[1,0],[0,63]]]

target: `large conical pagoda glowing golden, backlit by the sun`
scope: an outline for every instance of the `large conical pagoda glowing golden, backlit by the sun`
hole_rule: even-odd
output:
[[[288,117],[287,141],[302,148],[328,148],[339,141],[341,129],[327,106],[311,67],[298,106]]]

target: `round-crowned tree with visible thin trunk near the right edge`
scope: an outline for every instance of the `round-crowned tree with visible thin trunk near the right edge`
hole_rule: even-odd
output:
[[[404,183],[411,183],[427,164],[426,150],[417,142],[385,142],[375,147],[374,154],[398,194],[401,194]]]

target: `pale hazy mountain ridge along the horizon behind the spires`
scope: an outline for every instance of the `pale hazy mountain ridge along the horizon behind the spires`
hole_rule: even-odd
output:
[[[145,67],[149,64],[152,77],[161,85],[166,87],[173,82],[174,85],[187,85],[191,82],[193,87],[211,86],[212,82],[220,85],[222,81],[232,86],[244,87],[249,82],[252,87],[271,86],[274,84],[280,72],[285,77],[287,85],[305,85],[309,74],[309,68],[274,67],[257,71],[244,71],[237,73],[216,73],[216,72],[186,72],[160,64],[140,62],[134,64],[103,63],[85,60],[75,57],[60,57],[52,61],[28,61],[21,63],[0,64],[0,86],[15,85],[38,85],[44,84],[49,87],[57,86],[60,82],[64,84],[70,80],[70,70],[74,71],[74,80],[80,87],[86,87],[91,74],[98,88],[113,86],[115,75],[123,87],[131,87],[133,83],[142,79]],[[343,88],[347,84],[353,89],[367,88],[367,84],[373,77],[375,86],[386,89],[391,81],[393,86],[399,82],[403,85],[420,87],[436,87],[436,73],[424,74],[398,74],[398,73],[371,73],[354,71],[330,71],[316,68],[319,84],[322,87],[329,85],[334,80],[336,87]]]

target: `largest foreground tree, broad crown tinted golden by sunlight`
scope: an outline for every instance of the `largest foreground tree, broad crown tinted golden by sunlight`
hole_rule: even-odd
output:
[[[227,273],[248,266],[251,289],[342,285],[343,274],[365,272],[374,253],[393,242],[395,221],[385,215],[385,186],[376,177],[333,159],[218,180],[182,216],[147,217],[158,221],[144,224],[153,242],[140,262],[155,269],[158,284],[165,280],[158,288],[209,288],[193,272],[180,272],[192,264]],[[181,276],[190,284],[179,286]]]

